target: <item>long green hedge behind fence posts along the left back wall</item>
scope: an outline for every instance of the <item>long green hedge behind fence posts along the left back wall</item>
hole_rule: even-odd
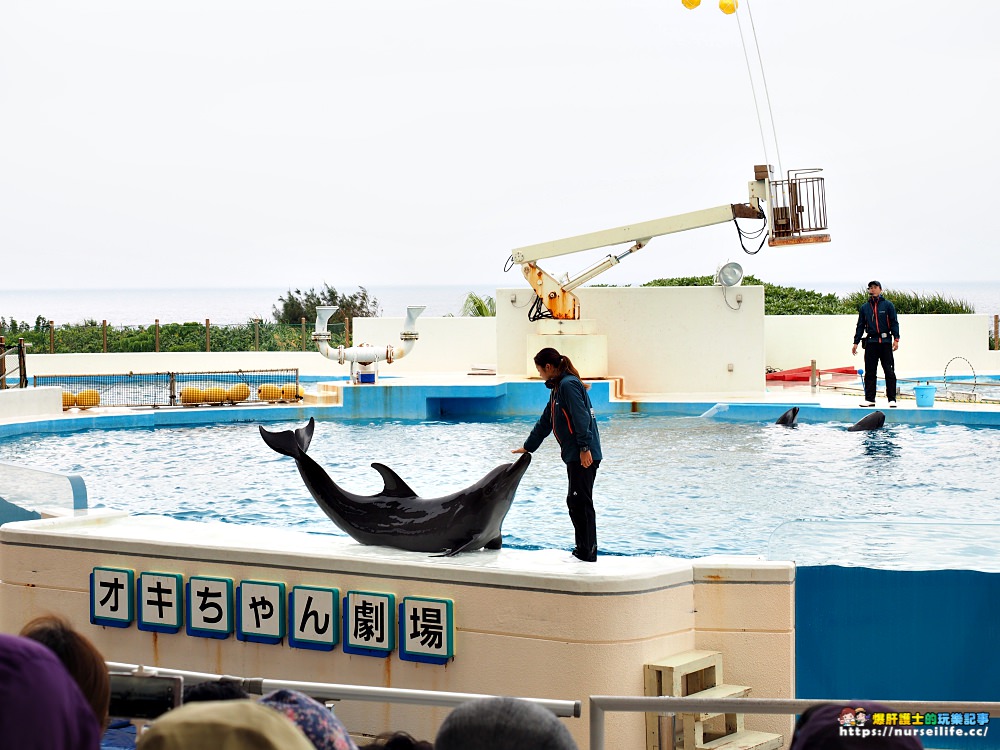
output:
[[[329,325],[331,345],[347,346],[343,323]],[[36,354],[98,354],[134,352],[295,352],[312,351],[312,324],[272,323],[251,320],[235,325],[204,323],[160,323],[152,325],[108,325],[88,322],[57,325],[35,321],[34,325],[0,319],[0,334],[23,337]]]

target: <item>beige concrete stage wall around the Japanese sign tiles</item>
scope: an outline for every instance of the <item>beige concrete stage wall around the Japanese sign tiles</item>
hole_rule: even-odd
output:
[[[97,512],[0,527],[0,631],[67,617],[111,661],[217,674],[583,701],[567,726],[587,747],[589,695],[642,695],[644,665],[693,648],[723,652],[727,681],[792,697],[794,567],[753,558],[606,556],[593,565],[557,550],[456,558],[363,547],[343,537]],[[196,550],[196,553],[192,553]],[[90,623],[95,566],[446,598],[455,656],[444,665],[278,644],[153,633]],[[432,738],[444,708],[343,701],[352,732],[405,729]],[[787,717],[748,728],[790,731]],[[607,746],[645,747],[642,714],[611,714]]]

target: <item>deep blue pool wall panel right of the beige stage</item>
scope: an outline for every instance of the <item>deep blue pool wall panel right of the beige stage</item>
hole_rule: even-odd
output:
[[[797,698],[995,701],[1000,574],[801,567],[795,578]],[[1000,748],[986,737],[926,747]]]

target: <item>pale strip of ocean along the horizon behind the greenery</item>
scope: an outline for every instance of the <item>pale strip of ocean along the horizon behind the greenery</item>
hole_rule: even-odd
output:
[[[469,292],[495,296],[498,288],[524,286],[520,279],[509,285],[448,284],[413,286],[366,286],[378,300],[383,317],[403,317],[407,305],[426,305],[424,315],[458,315]],[[792,284],[824,294],[845,295],[862,289],[862,284],[803,282]],[[891,289],[891,287],[889,287]],[[971,304],[977,313],[1000,314],[1000,283],[919,282],[898,288],[919,294],[940,294]],[[337,289],[351,294],[357,286]],[[78,324],[87,320],[109,325],[152,325],[161,323],[204,323],[215,325],[246,323],[254,318],[273,320],[272,308],[288,293],[280,288],[187,288],[187,289],[7,289],[0,293],[0,317],[34,323],[42,316],[56,325]]]

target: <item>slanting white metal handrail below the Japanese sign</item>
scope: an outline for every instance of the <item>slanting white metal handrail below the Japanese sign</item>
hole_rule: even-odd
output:
[[[208,672],[191,672],[183,669],[168,669],[163,667],[147,668],[138,664],[122,662],[106,662],[111,672],[128,672],[133,674],[162,674],[183,678],[184,682],[210,682],[233,680],[244,690],[253,695],[264,695],[272,690],[298,690],[313,698],[322,700],[357,700],[376,703],[405,703],[422,706],[448,706],[454,708],[463,703],[481,698],[497,696],[481,693],[449,693],[439,690],[410,690],[405,688],[369,687],[367,685],[342,685],[326,682],[297,682],[295,680],[270,680],[264,677],[234,677],[231,675],[211,674]],[[521,698],[521,700],[536,703],[546,708],[556,716],[579,718],[582,714],[582,701],[556,700],[550,698]]]

